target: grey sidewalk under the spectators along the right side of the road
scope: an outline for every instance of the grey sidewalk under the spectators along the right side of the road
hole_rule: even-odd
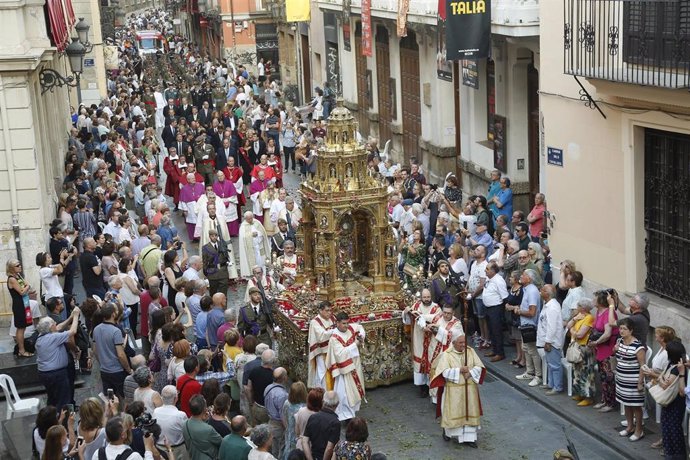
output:
[[[506,348],[510,348],[510,346]],[[480,356],[482,355],[483,353],[480,354]],[[514,353],[507,353],[507,355],[510,355],[510,357],[506,357],[503,361],[496,363],[490,362],[488,358],[483,358],[482,362],[486,366],[486,370],[498,379],[503,380],[519,392],[559,415],[564,422],[572,423],[598,441],[611,446],[626,458],[662,458],[659,449],[650,447],[651,443],[661,439],[661,425],[655,421],[656,414],[653,405],[648,403],[649,418],[644,421],[644,438],[637,442],[630,442],[628,438],[618,435],[618,432],[623,429],[620,421],[625,419],[625,417],[620,415],[620,408],[602,414],[593,409],[592,406],[578,407],[577,402],[568,396],[565,373],[563,375],[565,391],[559,395],[546,396],[545,390],[538,386],[530,387],[528,386],[528,381],[515,378],[516,375],[522,373],[522,369],[516,369],[510,364]],[[578,446],[576,445],[575,448],[577,449]]]

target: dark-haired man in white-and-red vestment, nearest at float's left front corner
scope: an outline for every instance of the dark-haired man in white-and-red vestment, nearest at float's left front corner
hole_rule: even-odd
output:
[[[333,390],[340,398],[335,413],[338,420],[343,421],[357,415],[364,399],[364,375],[358,348],[364,343],[364,329],[359,324],[349,324],[350,316],[344,311],[335,319],[337,328],[328,341],[326,369],[333,377]]]

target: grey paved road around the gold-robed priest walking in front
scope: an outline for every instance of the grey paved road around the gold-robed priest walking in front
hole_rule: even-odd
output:
[[[480,394],[484,416],[478,449],[443,441],[435,406],[420,398],[411,382],[369,391],[359,415],[369,425],[373,451],[395,460],[551,459],[566,447],[563,426],[580,458],[624,458],[490,374]]]

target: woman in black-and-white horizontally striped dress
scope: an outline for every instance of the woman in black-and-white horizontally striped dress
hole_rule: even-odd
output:
[[[644,437],[642,407],[644,407],[644,376],[640,372],[645,359],[645,347],[632,335],[633,323],[629,318],[618,320],[620,339],[614,347],[616,353],[616,401],[625,407],[628,427],[621,436],[631,442]],[[632,430],[631,430],[632,428]]]

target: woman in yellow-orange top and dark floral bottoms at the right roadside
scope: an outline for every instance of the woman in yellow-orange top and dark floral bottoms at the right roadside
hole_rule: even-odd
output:
[[[573,400],[578,406],[590,406],[594,396],[594,366],[596,360],[592,350],[587,347],[589,334],[594,326],[592,310],[594,303],[590,299],[577,302],[577,314],[568,321],[566,329],[570,332],[571,341],[577,342],[582,351],[582,361],[573,363]]]

